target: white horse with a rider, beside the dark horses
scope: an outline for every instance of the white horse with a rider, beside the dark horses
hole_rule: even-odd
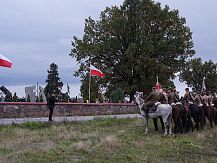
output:
[[[159,104],[155,112],[148,113],[148,115],[146,115],[146,113],[143,110],[144,108],[144,99],[142,99],[143,92],[136,92],[134,97],[135,97],[135,102],[140,109],[140,113],[142,117],[144,118],[145,133],[148,132],[148,118],[149,117],[150,118],[162,117],[163,122],[164,122],[164,128],[165,128],[164,135],[172,134],[172,123],[171,123],[172,122],[172,107],[169,104]]]

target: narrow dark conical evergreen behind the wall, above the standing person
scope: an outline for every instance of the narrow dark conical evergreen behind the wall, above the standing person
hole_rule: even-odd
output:
[[[45,81],[47,85],[45,86],[44,92],[47,96],[48,94],[55,94],[57,97],[61,96],[61,90],[63,83],[60,81],[58,66],[55,63],[51,63],[50,69],[47,70],[48,76]]]

